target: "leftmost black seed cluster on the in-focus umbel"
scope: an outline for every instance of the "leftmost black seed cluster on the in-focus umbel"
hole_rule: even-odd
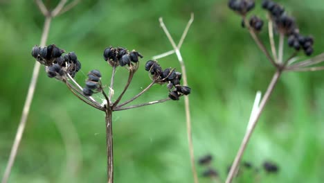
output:
[[[74,52],[62,55],[64,50],[59,49],[55,44],[49,46],[34,46],[32,55],[36,60],[44,64],[48,77],[62,79],[66,73],[74,78],[75,74],[81,69],[81,63]]]

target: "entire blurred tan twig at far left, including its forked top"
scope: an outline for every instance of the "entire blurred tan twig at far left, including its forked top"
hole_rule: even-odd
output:
[[[75,0],[75,1],[78,1],[78,0]],[[48,8],[46,8],[46,6],[44,5],[42,0],[35,0],[35,3],[37,4],[39,10],[42,12],[42,14],[45,17],[42,38],[41,38],[41,42],[39,44],[40,46],[45,46],[47,38],[48,38],[49,29],[51,26],[51,21],[54,17],[56,17],[57,15],[60,14],[62,8],[64,8],[66,0],[61,0],[60,3],[57,4],[57,6],[55,7],[55,9],[53,11],[48,10]],[[15,162],[15,157],[18,152],[19,144],[20,144],[22,135],[24,134],[24,130],[26,127],[26,121],[28,119],[30,105],[33,101],[35,87],[36,87],[37,79],[38,79],[38,75],[39,75],[39,68],[40,68],[39,62],[35,62],[34,69],[33,69],[33,76],[30,80],[30,85],[28,87],[28,94],[26,96],[26,101],[24,103],[23,112],[21,114],[21,119],[19,122],[16,136],[15,136],[15,141],[12,144],[12,148],[10,151],[10,157],[8,159],[8,164],[6,166],[5,173],[3,174],[3,178],[1,180],[2,183],[8,182],[12,166]]]

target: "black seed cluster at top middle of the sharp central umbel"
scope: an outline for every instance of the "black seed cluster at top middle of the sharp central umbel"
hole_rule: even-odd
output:
[[[109,62],[111,66],[117,67],[118,65],[124,67],[125,65],[130,65],[132,62],[138,62],[138,57],[143,58],[143,56],[137,51],[128,51],[122,47],[108,47],[103,53],[104,59]]]

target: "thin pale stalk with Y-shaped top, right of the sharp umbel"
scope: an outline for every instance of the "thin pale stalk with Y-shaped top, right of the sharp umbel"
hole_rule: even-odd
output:
[[[186,66],[183,62],[183,58],[181,56],[180,53],[180,47],[183,43],[183,40],[185,39],[188,30],[192,24],[192,21],[194,20],[194,15],[193,13],[191,14],[190,20],[188,21],[188,24],[185,28],[185,30],[183,31],[183,34],[181,36],[181,40],[178,44],[178,46],[175,44],[172,36],[169,33],[168,28],[166,28],[162,17],[159,19],[160,21],[160,25],[164,30],[165,35],[168,37],[168,40],[170,41],[170,44],[172,45],[174,52],[177,55],[177,58],[179,60],[179,63],[181,65],[181,72],[183,74],[183,85],[188,86],[188,80],[187,80],[187,73],[186,73]],[[197,176],[197,170],[196,170],[196,166],[195,166],[195,153],[194,153],[194,148],[193,148],[193,143],[192,143],[192,129],[191,129],[191,118],[190,118],[190,101],[189,101],[189,97],[188,96],[184,96],[185,99],[185,110],[186,110],[186,126],[187,126],[187,138],[188,138],[188,148],[189,148],[189,153],[190,153],[190,163],[191,163],[191,169],[192,169],[192,175],[194,177],[194,182],[198,183],[198,176]]]

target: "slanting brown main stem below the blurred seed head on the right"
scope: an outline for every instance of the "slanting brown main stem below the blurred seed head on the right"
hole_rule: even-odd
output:
[[[255,116],[254,118],[252,119],[251,121],[251,127],[246,130],[246,133],[244,135],[244,138],[242,140],[242,143],[241,143],[241,146],[240,146],[240,149],[238,150],[237,152],[237,155],[234,159],[234,162],[231,166],[231,171],[228,173],[228,177],[226,179],[226,183],[231,183],[232,180],[233,180],[233,177],[235,177],[235,174],[237,172],[237,168],[240,164],[240,160],[242,159],[242,156],[244,154],[244,151],[246,149],[246,146],[247,144],[249,143],[249,140],[251,138],[251,134],[253,133],[254,129],[255,129],[255,126],[257,125],[258,123],[258,120],[260,119],[260,116],[264,110],[264,107],[265,105],[267,104],[267,101],[269,101],[269,98],[273,92],[273,89],[274,87],[276,87],[276,84],[281,76],[281,73],[282,73],[282,70],[280,69],[277,69],[276,73],[273,75],[273,78],[269,84],[269,87],[267,89],[267,92],[264,94],[262,100],[261,100],[261,103],[260,103],[260,106],[258,107],[258,111],[255,112]]]

